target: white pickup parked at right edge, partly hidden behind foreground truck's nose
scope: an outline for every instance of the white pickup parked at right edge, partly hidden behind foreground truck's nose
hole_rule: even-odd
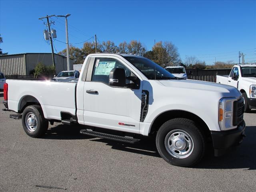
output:
[[[216,82],[240,90],[245,112],[256,109],[256,64],[234,65],[229,75],[217,75]]]

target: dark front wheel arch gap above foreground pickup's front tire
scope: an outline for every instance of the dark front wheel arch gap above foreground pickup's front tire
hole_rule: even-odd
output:
[[[159,114],[152,122],[149,130],[149,135],[152,135],[158,131],[158,129],[164,124],[166,121],[174,119],[174,118],[186,118],[193,120],[198,128],[202,131],[202,133],[206,136],[210,136],[210,129],[207,124],[196,114],[192,112],[184,111],[184,110],[169,110]]]

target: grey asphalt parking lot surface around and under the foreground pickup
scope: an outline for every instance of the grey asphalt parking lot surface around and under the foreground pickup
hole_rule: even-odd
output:
[[[256,110],[244,114],[247,137],[237,150],[182,168],[160,158],[147,138],[125,144],[62,124],[30,138],[2,100],[1,92],[0,191],[256,191]]]

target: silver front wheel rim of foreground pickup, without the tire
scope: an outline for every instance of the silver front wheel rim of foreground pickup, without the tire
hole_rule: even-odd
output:
[[[194,149],[191,136],[179,129],[172,130],[166,135],[164,145],[168,153],[175,158],[186,158]]]

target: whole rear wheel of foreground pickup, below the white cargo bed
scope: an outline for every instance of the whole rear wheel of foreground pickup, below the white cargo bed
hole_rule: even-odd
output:
[[[30,137],[39,138],[48,130],[49,122],[44,118],[41,106],[27,106],[22,113],[22,126]]]

